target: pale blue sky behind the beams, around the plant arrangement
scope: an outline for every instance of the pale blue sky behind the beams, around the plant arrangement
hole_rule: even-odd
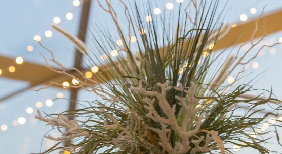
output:
[[[187,3],[187,1],[184,0],[184,3]],[[80,0],[80,2],[82,3],[83,1]],[[142,5],[146,2],[145,0],[141,0],[138,1],[138,4]],[[169,2],[173,3],[175,8],[179,5],[175,0],[156,0],[153,4],[155,7],[158,6],[160,9],[165,10],[165,5]],[[225,7],[224,4],[226,1],[221,2],[223,3],[220,3],[220,8]],[[266,6],[265,14],[282,9],[282,1],[280,0],[238,0],[227,2],[228,15],[225,18],[225,22],[229,23],[240,24],[239,16],[241,14],[246,14],[248,20],[255,18],[260,14],[264,6]],[[122,9],[118,5],[116,6],[119,15],[123,16],[123,13],[120,13]],[[257,9],[256,14],[250,13],[250,8],[252,7]],[[64,36],[52,30],[50,25],[54,17],[60,17],[61,23],[59,23],[59,26],[77,35],[81,5],[76,7],[71,0],[10,0],[1,1],[0,10],[0,56],[11,58],[21,56],[24,58],[24,61],[44,65],[45,62],[39,53],[46,54],[47,52],[33,40],[35,35],[40,35],[41,42],[54,51],[54,55],[59,62],[62,62],[65,66],[73,66],[74,55],[70,50],[74,51],[74,46]],[[68,12],[73,14],[72,20],[66,19],[65,15]],[[89,22],[90,30],[93,30],[95,23],[100,23],[102,26],[107,25],[113,36],[116,35],[116,38],[118,38],[110,17],[99,8],[97,1],[93,0]],[[275,26],[281,27],[281,24],[282,21],[280,20],[277,21],[277,25]],[[47,38],[44,36],[46,30],[53,32],[51,37]],[[268,35],[263,43],[272,44],[278,42],[280,37],[282,37],[281,31]],[[90,41],[91,36],[87,35],[87,43]],[[32,52],[27,51],[27,46],[29,45],[34,47]],[[271,54],[274,50],[276,52]],[[264,56],[259,56],[255,61],[250,63],[252,65],[253,62],[258,62],[259,67],[257,69],[250,67],[249,71],[253,71],[253,73],[248,78],[253,79],[261,74],[254,82],[255,87],[268,90],[272,88],[274,94],[279,99],[282,99],[282,46],[276,45],[274,49],[266,49],[264,52]],[[18,88],[27,87],[28,85],[28,83],[23,81],[6,79],[0,76],[0,98],[12,93]],[[35,89],[40,87],[42,86],[35,87]],[[47,107],[45,101],[47,99],[55,99],[58,92],[62,92],[66,99],[55,100],[53,106]],[[47,139],[42,140],[45,133],[50,130],[50,127],[46,127],[43,122],[35,120],[33,118],[35,112],[27,114],[26,108],[32,107],[35,111],[37,109],[35,103],[41,101],[44,105],[40,110],[46,113],[59,113],[68,108],[68,98],[68,90],[49,88],[39,92],[27,90],[16,95],[16,97],[0,102],[0,125],[5,124],[8,126],[7,131],[0,130],[0,153],[39,153],[41,146],[42,151],[52,146],[54,142]],[[95,98],[96,96],[93,93],[79,92],[79,100],[93,101]],[[13,126],[12,122],[19,117],[24,117],[26,123]],[[279,132],[281,131],[280,129]],[[50,133],[53,136],[59,136],[59,133],[56,131],[51,131]],[[282,135],[282,133],[280,134]],[[271,139],[271,141],[274,142],[275,140]],[[270,144],[268,146],[272,150],[282,151],[277,144]],[[258,153],[249,148],[240,149],[234,153],[246,152]]]

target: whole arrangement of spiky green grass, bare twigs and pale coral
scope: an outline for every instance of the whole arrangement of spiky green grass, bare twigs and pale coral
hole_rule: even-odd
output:
[[[277,116],[281,101],[272,91],[242,82],[247,78],[245,64],[261,49],[271,47],[257,48],[264,38],[253,39],[257,28],[247,50],[242,49],[244,43],[238,50],[228,47],[214,52],[218,40],[231,28],[221,23],[225,12],[218,11],[221,2],[192,0],[187,6],[179,4],[175,14],[164,15],[153,15],[152,3],[128,7],[123,0],[118,2],[124,9],[123,20],[127,22],[122,24],[126,28],[120,26],[120,16],[109,0],[98,1],[116,27],[118,42],[106,28],[97,26],[91,35],[93,49],[89,50],[76,37],[52,25],[85,55],[84,67],[92,70],[94,78],[64,67],[41,44],[51,54],[51,59],[45,59],[47,66],[53,62],[61,68],[50,69],[79,81],[68,88],[92,91],[98,97],[93,102],[77,102],[85,108],[72,112],[43,117],[38,111],[37,119],[62,132],[58,138],[46,136],[57,144],[43,153],[232,153],[232,148],[225,146],[228,144],[260,153],[275,152],[263,143],[269,133],[279,143],[277,129],[262,130],[261,124],[281,127],[268,121]],[[69,70],[78,75],[67,73]],[[235,77],[228,83],[231,74]],[[259,109],[265,106],[273,111]],[[68,119],[71,114],[75,120]]]

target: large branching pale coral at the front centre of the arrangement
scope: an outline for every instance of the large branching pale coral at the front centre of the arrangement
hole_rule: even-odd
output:
[[[170,106],[169,102],[166,100],[166,93],[169,89],[173,88],[169,85],[169,81],[165,82],[164,84],[157,83],[157,86],[161,88],[160,93],[157,91],[147,91],[144,89],[141,85],[139,87],[132,87],[131,90],[137,91],[139,93],[142,93],[146,95],[147,97],[144,98],[144,102],[146,102],[148,105],[145,106],[146,109],[149,111],[147,116],[154,120],[157,123],[160,123],[161,128],[154,128],[154,127],[148,127],[149,130],[155,132],[158,134],[160,141],[159,145],[168,153],[196,153],[197,151],[200,152],[207,152],[210,151],[211,147],[210,141],[211,137],[207,134],[207,136],[200,137],[199,140],[193,140],[192,143],[195,144],[195,148],[191,149],[190,142],[188,139],[192,136],[194,136],[199,131],[200,124],[202,124],[201,120],[203,117],[198,117],[198,120],[195,123],[195,127],[193,130],[187,131],[187,128],[189,125],[192,124],[191,118],[194,117],[199,111],[202,111],[203,107],[197,107],[194,108],[194,104],[197,102],[196,98],[194,97],[194,93],[196,91],[196,85],[191,82],[190,90],[184,90],[184,88],[180,85],[180,87],[174,87],[176,90],[182,90],[186,94],[188,94],[188,102],[185,102],[185,98],[176,96],[175,99],[179,100],[179,105],[183,107],[185,110],[185,117],[183,119],[182,124],[179,126],[177,122],[177,117],[175,117],[175,109],[176,104],[173,106]],[[150,99],[148,97],[155,97],[158,100],[158,104],[160,108],[162,109],[163,113],[166,115],[160,116],[157,111],[154,108],[153,103],[155,102],[155,99]],[[187,105],[188,103],[188,105]],[[177,141],[175,143],[175,146],[172,147],[172,145],[169,144],[170,140],[170,131],[175,131],[180,138],[180,141]],[[199,144],[204,140],[205,138],[205,145],[200,146]]]

